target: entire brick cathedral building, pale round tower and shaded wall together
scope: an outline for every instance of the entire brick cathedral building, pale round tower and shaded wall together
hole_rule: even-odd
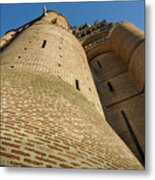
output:
[[[0,166],[145,167],[144,31],[53,10],[1,38]]]

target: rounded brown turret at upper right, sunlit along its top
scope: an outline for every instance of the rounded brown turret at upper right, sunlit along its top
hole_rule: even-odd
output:
[[[126,64],[143,41],[144,31],[129,22],[120,23],[111,32],[112,46]]]

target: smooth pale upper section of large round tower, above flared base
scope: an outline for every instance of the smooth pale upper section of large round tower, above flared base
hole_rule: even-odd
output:
[[[53,12],[49,14],[52,20],[55,19],[53,14]],[[2,65],[8,69],[11,67],[29,69],[61,78],[94,103],[94,107],[102,114],[102,108],[81,44],[69,31],[63,29],[59,24],[52,24],[52,20],[50,21],[50,18],[47,17],[43,17],[24,30],[5,49],[1,54]],[[62,20],[62,16],[60,17]]]

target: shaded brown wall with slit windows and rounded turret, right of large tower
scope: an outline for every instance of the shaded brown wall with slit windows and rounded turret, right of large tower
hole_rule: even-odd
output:
[[[111,30],[109,40],[86,50],[106,119],[142,163],[144,47],[144,32],[123,22]]]

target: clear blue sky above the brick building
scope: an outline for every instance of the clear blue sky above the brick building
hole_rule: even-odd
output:
[[[66,3],[22,3],[1,4],[2,36],[9,29],[37,18],[42,14],[42,5],[48,10],[56,10],[69,20],[70,25],[93,24],[95,20],[106,19],[108,22],[130,21],[144,30],[144,1],[113,2],[66,2]]]

